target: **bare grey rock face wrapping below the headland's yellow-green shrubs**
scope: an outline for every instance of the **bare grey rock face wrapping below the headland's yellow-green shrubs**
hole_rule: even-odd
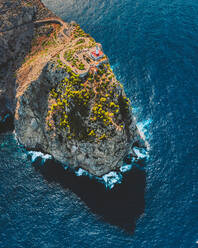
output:
[[[125,128],[114,130],[114,134],[104,140],[69,139],[65,129],[50,130],[47,126],[50,91],[68,77],[69,73],[66,70],[63,73],[57,62],[49,61],[38,79],[29,84],[18,99],[20,106],[15,122],[18,140],[29,149],[49,153],[71,168],[81,167],[96,176],[119,169],[133,143],[140,138],[131,112],[124,120]],[[125,95],[123,89],[115,91],[119,96]],[[78,114],[80,124],[84,117],[80,112]],[[101,129],[100,123],[93,124],[93,128]],[[108,133],[111,128],[103,127],[103,131]]]

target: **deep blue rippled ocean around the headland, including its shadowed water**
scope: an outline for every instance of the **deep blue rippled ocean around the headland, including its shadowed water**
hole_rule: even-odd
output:
[[[0,136],[0,248],[198,247],[198,1],[43,0],[102,43],[150,145],[111,191]]]

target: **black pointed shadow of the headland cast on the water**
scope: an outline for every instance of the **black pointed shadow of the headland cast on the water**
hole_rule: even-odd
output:
[[[77,177],[57,163],[48,161],[36,170],[49,182],[77,194],[90,210],[102,220],[132,234],[136,220],[144,212],[145,171],[133,168],[123,175],[122,184],[107,190],[102,183],[87,176]]]

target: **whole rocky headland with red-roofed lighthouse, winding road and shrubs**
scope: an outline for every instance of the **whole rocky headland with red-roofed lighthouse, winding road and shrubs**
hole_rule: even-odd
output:
[[[118,169],[141,138],[130,101],[101,44],[77,24],[54,16],[39,1],[18,3],[20,21],[16,17],[14,26],[6,21],[1,34],[5,44],[13,37],[19,45],[15,42],[13,53],[5,53],[0,61],[4,68],[10,61],[8,77],[15,72],[8,84],[12,93],[3,87],[4,74],[0,89],[15,109],[17,139],[28,149],[49,153],[96,176]]]

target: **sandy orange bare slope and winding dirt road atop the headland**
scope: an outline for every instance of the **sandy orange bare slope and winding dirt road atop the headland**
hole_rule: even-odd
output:
[[[90,41],[88,37],[79,37],[73,40],[72,35],[68,36],[66,34],[66,32],[70,28],[69,25],[59,18],[46,18],[35,21],[34,24],[35,26],[45,24],[59,24],[61,25],[61,29],[58,32],[58,36],[60,37],[61,34],[62,37],[60,39],[60,42],[58,41],[55,46],[48,47],[47,51],[43,50],[39,54],[32,56],[26,63],[21,66],[21,68],[17,72],[17,97],[23,94],[31,81],[34,81],[38,78],[43,67],[51,58],[59,54],[60,60],[67,66],[71,67],[71,64],[64,58],[66,50],[80,47],[82,44],[76,44],[79,39],[85,40],[85,42],[83,43],[83,46],[85,46],[85,48],[89,45]],[[90,68],[90,65],[83,58],[83,54],[79,55],[79,60],[84,64],[85,69],[79,70],[78,68],[73,67],[72,69],[77,74],[86,74]]]

